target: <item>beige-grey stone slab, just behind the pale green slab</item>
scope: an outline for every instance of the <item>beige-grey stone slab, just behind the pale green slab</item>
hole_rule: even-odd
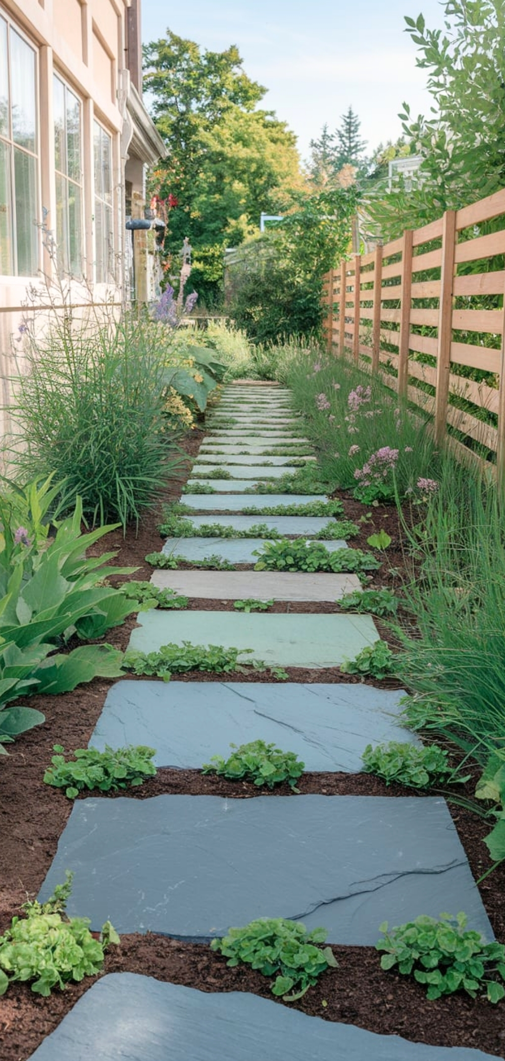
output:
[[[361,590],[358,575],[283,571],[154,571],[151,581],[160,589],[209,601],[332,602]]]

